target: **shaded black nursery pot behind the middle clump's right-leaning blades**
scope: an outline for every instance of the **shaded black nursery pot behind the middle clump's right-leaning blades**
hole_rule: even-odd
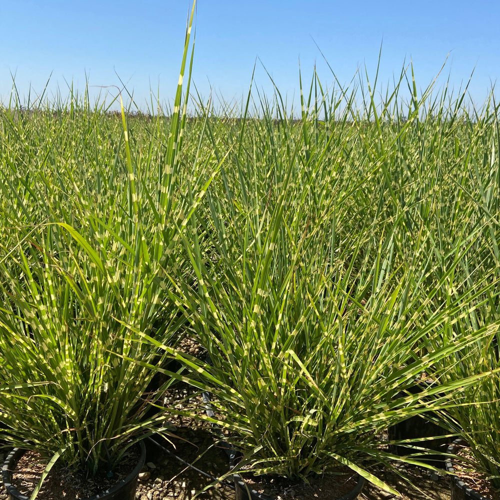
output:
[[[428,388],[432,382],[419,382],[409,388],[409,392],[412,394],[417,394],[419,391]],[[400,392],[397,397],[403,397],[404,393]],[[420,439],[421,441],[412,441],[412,446],[419,446],[422,448],[428,448],[434,451],[444,451],[449,445],[449,438],[438,437],[436,439],[423,439],[432,436],[439,436],[443,434],[448,434],[448,431],[439,425],[435,424],[429,419],[433,414],[432,412],[425,412],[421,415],[415,415],[391,425],[387,429],[387,438],[389,441],[392,440],[403,440],[403,439]],[[408,455],[410,453],[416,453],[417,450],[403,444],[389,444],[389,451],[395,455]],[[433,465],[434,467],[443,468],[444,467],[444,454],[435,453],[425,453],[422,452],[421,455],[415,455],[415,459]]]

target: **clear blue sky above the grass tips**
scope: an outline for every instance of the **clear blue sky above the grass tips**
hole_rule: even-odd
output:
[[[84,88],[113,85],[115,71],[145,108],[150,89],[171,102],[178,77],[188,0],[2,0],[0,3],[0,97],[29,84],[40,91],[52,72],[49,93],[67,82]],[[449,75],[458,90],[474,69],[470,92],[482,103],[500,68],[500,2],[496,1],[229,1],[198,0],[193,81],[201,95],[240,100],[255,82],[270,93],[262,67],[282,94],[298,97],[298,67],[310,81],[314,63],[321,81],[344,84],[357,68],[375,74],[380,43],[380,81],[386,85],[410,59],[418,87],[426,86],[448,56],[438,87]],[[382,41],[383,40],[383,41]],[[261,62],[260,62],[261,61]],[[111,90],[114,91],[114,90]]]

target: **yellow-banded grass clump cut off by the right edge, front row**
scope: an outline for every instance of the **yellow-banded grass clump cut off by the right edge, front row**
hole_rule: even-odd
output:
[[[461,263],[462,270],[469,275],[481,273],[490,282],[497,282],[498,279],[498,160],[495,152],[497,140],[495,137],[490,153],[483,155],[483,165],[475,168],[473,176],[478,185],[474,200],[475,218],[482,230],[480,241],[476,241],[473,249],[479,258],[468,258]],[[465,331],[483,328],[495,322],[497,324],[497,294],[492,289],[484,290],[478,301],[481,302],[480,306],[471,310],[453,329],[444,332],[441,345],[453,345],[455,339],[461,337]],[[436,365],[439,369],[447,368],[443,369],[441,377],[445,382],[460,380],[481,372],[491,373],[491,376],[468,387],[461,398],[452,400],[450,407],[441,412],[440,417],[442,425],[459,429],[457,437],[462,438],[463,444],[469,449],[470,457],[460,457],[458,460],[460,466],[465,469],[465,474],[479,473],[496,490],[500,490],[498,337],[499,330],[495,328],[489,335],[477,338],[466,349],[444,357]]]

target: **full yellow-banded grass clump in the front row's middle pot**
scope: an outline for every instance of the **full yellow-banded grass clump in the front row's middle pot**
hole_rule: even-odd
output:
[[[309,123],[314,120],[302,120],[298,137],[308,137]],[[272,123],[265,124],[256,132],[256,152],[233,148],[241,157],[228,157],[224,182],[237,185],[236,193],[207,192],[200,223],[210,234],[210,255],[196,234],[182,239],[198,280],[195,286],[177,280],[176,299],[211,360],[186,361],[193,383],[211,394],[214,411],[193,416],[223,429],[223,442],[241,456],[232,470],[240,476],[315,482],[345,466],[397,494],[372,472],[399,458],[380,435],[388,425],[446,407],[452,393],[472,383],[408,390],[438,359],[473,341],[465,336],[415,354],[438,344],[467,302],[450,296],[445,306],[428,307],[435,289],[415,286],[428,270],[407,265],[419,252],[425,256],[425,245],[399,261],[396,223],[349,226],[339,215],[347,194],[336,172],[308,164],[318,171],[307,174],[297,156],[312,144],[299,147],[296,137],[287,143],[292,131],[285,126],[284,145],[277,146],[267,136]],[[323,139],[316,137],[319,149],[307,149],[311,157],[323,156]],[[251,161],[248,150],[256,155]],[[319,203],[311,193],[321,192],[329,194]],[[383,238],[374,238],[382,228]],[[421,463],[419,454],[400,458]],[[343,493],[332,488],[327,494]]]

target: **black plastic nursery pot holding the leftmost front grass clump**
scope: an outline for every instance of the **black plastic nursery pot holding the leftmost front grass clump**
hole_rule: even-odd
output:
[[[135,500],[135,490],[137,488],[137,478],[140,469],[144,465],[146,458],[146,448],[142,441],[140,445],[140,457],[133,468],[133,470],[118,484],[111,488],[106,489],[96,495],[82,498],[82,500]],[[2,480],[7,493],[10,495],[11,500],[29,500],[29,496],[19,493],[17,489],[12,486],[12,472],[19,461],[19,458],[26,450],[22,448],[14,448],[8,455],[2,466]],[[68,498],[68,500],[71,500]]]

